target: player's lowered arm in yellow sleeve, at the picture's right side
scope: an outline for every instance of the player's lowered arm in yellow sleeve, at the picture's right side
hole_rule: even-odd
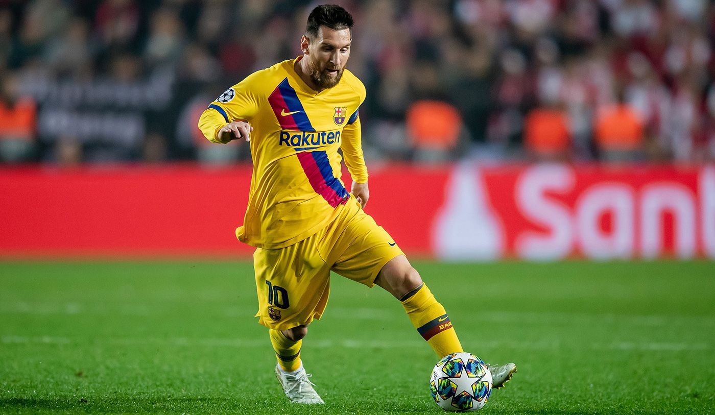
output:
[[[342,129],[342,141],[340,149],[345,158],[345,165],[352,176],[352,188],[350,193],[358,199],[360,206],[365,208],[370,199],[368,189],[368,167],[365,166],[365,156],[363,156],[363,139],[360,131],[360,116],[358,111],[350,116],[347,125]]]

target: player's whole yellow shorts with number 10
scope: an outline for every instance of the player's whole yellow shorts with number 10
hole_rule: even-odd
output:
[[[303,241],[253,254],[259,323],[291,329],[320,319],[330,293],[330,271],[375,285],[380,269],[404,255],[390,235],[350,196],[335,221]]]

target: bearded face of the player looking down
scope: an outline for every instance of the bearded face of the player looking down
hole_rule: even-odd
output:
[[[304,59],[308,59],[310,80],[320,89],[337,85],[350,57],[350,29],[334,30],[320,26],[315,39],[303,38],[304,50],[307,49]]]

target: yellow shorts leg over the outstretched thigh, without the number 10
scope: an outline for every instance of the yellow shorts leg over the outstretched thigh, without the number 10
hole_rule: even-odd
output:
[[[396,256],[404,255],[392,236],[363,211],[354,216],[336,244],[332,270],[348,279],[373,286],[380,269]]]

